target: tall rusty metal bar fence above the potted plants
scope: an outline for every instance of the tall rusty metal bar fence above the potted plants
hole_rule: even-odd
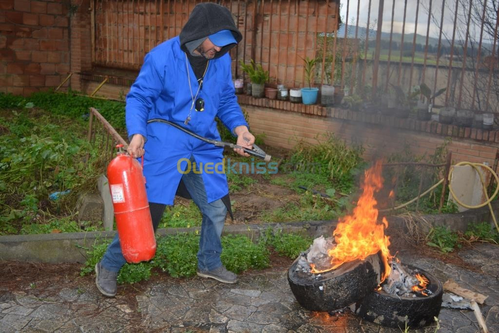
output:
[[[143,56],[178,35],[199,0],[94,0],[95,65],[138,69]],[[217,1],[243,33],[231,51],[268,70],[270,84],[305,85],[303,58],[316,58],[316,84],[371,95],[392,85],[446,88],[438,103],[498,112],[499,0]],[[340,18],[341,16],[341,18]],[[343,22],[343,23],[341,23]]]

